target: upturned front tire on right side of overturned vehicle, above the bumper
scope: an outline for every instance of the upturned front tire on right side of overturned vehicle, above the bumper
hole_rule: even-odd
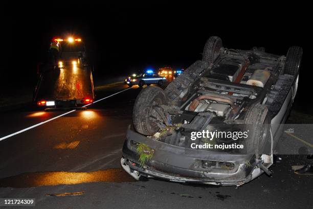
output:
[[[247,154],[255,154],[257,158],[271,143],[271,120],[268,112],[265,105],[258,104],[250,108],[244,118],[243,129],[248,132],[248,138],[243,139],[244,150],[247,151]]]

